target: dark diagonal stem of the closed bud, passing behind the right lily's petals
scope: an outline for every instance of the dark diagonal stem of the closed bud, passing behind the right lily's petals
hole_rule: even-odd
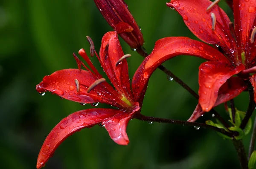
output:
[[[144,58],[148,56],[147,52],[141,46],[140,48],[136,49],[137,53],[143,56]],[[191,89],[186,83],[184,83],[179,77],[175,76],[171,71],[169,71],[166,67],[163,65],[158,66],[160,70],[165,72],[169,77],[172,77],[173,80],[175,80],[180,86],[182,86],[184,89],[186,89],[192,96],[194,96],[197,100],[199,99],[199,95]],[[226,121],[221,117],[221,115],[218,114],[214,109],[211,109],[211,112],[215,115],[214,117],[221,121],[221,123],[226,127],[229,128],[229,125],[226,123]]]

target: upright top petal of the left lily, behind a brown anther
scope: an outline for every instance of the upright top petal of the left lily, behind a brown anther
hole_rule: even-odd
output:
[[[108,53],[105,56],[106,46],[108,45]],[[122,60],[116,66],[116,62],[124,55],[122,47],[118,40],[116,32],[107,32],[102,37],[102,45],[100,48],[100,62],[103,69],[105,70],[108,78],[110,79],[113,86],[119,92],[120,95],[125,97],[132,102],[132,93],[128,73],[128,64],[126,59]]]

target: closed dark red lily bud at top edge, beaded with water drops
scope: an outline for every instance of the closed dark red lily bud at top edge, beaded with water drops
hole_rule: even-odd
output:
[[[94,2],[114,30],[120,23],[129,24],[130,28],[127,31],[116,31],[131,48],[137,49],[143,46],[144,40],[140,28],[123,0],[94,0]]]

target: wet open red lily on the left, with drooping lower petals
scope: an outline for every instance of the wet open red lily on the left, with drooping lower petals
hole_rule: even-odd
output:
[[[91,39],[88,38],[88,40],[92,44]],[[91,46],[91,52],[95,52],[93,46]],[[143,84],[144,81],[137,80],[136,86],[132,87],[133,92],[131,91],[128,64],[125,60],[131,55],[124,55],[116,32],[106,33],[102,38],[99,56],[95,52],[115,89],[102,78],[84,49],[79,50],[79,54],[90,69],[73,54],[79,69],[59,70],[45,76],[43,81],[36,86],[36,90],[40,93],[49,91],[62,98],[83,104],[107,103],[118,109],[86,109],[61,120],[49,133],[41,147],[37,162],[38,169],[45,165],[55,149],[67,137],[96,124],[105,126],[114,142],[127,145],[129,139],[126,126],[135,114],[140,113],[143,97],[140,97],[140,100],[135,99],[139,93],[134,88],[143,85],[145,90],[147,86]],[[87,70],[82,70],[81,65]],[[134,78],[137,76],[139,74],[134,74]]]

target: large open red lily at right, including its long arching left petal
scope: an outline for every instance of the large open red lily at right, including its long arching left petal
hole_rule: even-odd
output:
[[[212,107],[238,96],[247,88],[244,79],[250,79],[256,92],[255,75],[250,76],[256,72],[256,7],[253,6],[256,0],[227,1],[233,6],[234,28],[227,14],[216,5],[218,1],[171,0],[167,3],[180,13],[195,36],[214,44],[215,48],[188,37],[166,37],[156,42],[139,68],[146,78],[156,66],[177,55],[208,60],[199,67],[199,103],[189,121],[197,120]],[[236,74],[238,77],[233,77]],[[142,92],[141,97],[144,94]]]

